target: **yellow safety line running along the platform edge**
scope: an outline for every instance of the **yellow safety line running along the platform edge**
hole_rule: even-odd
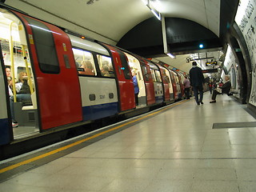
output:
[[[186,100],[185,100],[185,101],[182,101],[182,102],[186,102]],[[37,156],[37,157],[30,158],[30,159],[28,159],[28,160],[26,160],[26,161],[18,162],[18,163],[16,163],[16,164],[12,165],[12,166],[7,166],[6,168],[3,168],[2,170],[0,170],[0,174],[6,172],[6,171],[8,171],[8,170],[13,170],[13,169],[17,168],[18,166],[23,166],[23,165],[26,165],[26,164],[28,164],[28,163],[30,163],[30,162],[35,162],[35,161],[37,161],[38,159],[46,158],[46,157],[50,156],[51,154],[56,154],[56,153],[58,153],[58,152],[60,152],[60,151],[62,151],[62,150],[66,150],[66,149],[68,149],[68,148],[70,148],[70,147],[72,147],[72,146],[77,146],[78,144],[80,144],[80,143],[82,143],[82,142],[86,142],[86,141],[88,141],[88,140],[90,140],[90,139],[92,139],[92,138],[97,138],[98,136],[101,136],[102,134],[109,133],[109,132],[112,131],[112,130],[118,130],[118,129],[121,128],[122,126],[127,126],[127,125],[129,125],[130,123],[138,122],[138,121],[142,120],[143,118],[148,118],[148,117],[150,117],[150,116],[152,116],[152,115],[154,115],[154,114],[158,114],[158,113],[162,112],[163,110],[168,110],[169,108],[171,108],[171,107],[173,107],[173,106],[177,106],[177,105],[181,104],[182,102],[178,102],[178,103],[176,103],[176,104],[174,104],[174,105],[168,106],[168,107],[166,107],[166,108],[164,108],[164,109],[162,109],[162,110],[158,110],[158,111],[156,111],[156,112],[154,112],[154,113],[147,114],[146,116],[143,116],[142,118],[137,118],[137,119],[135,119],[134,121],[126,122],[126,123],[124,123],[124,124],[122,124],[122,125],[120,125],[120,126],[115,126],[115,127],[113,127],[112,129],[110,129],[110,130],[105,130],[105,131],[102,131],[102,132],[99,133],[99,134],[94,134],[93,136],[91,136],[91,137],[89,137],[89,138],[84,138],[84,139],[82,139],[82,140],[80,140],[80,141],[78,141],[78,142],[71,143],[70,145],[62,146],[61,148],[58,148],[57,150],[52,150],[52,151],[50,151],[50,152],[48,152],[48,153],[46,153],[46,154],[41,154],[41,155],[39,155],[39,156]]]

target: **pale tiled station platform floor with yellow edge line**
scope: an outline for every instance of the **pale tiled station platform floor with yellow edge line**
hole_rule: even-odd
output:
[[[0,191],[250,192],[256,121],[227,95],[176,102],[7,159]]]

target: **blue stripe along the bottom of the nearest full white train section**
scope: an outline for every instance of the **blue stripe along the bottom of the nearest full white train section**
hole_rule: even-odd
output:
[[[83,106],[83,121],[95,120],[98,118],[106,118],[110,115],[118,113],[118,102],[100,104],[96,106]]]

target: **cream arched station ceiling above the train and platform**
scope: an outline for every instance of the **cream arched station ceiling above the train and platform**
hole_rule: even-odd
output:
[[[190,19],[220,35],[221,0],[150,2],[165,17]],[[6,0],[5,3],[35,18],[112,45],[116,45],[138,23],[154,17],[142,0]],[[184,62],[172,66],[180,68]],[[190,66],[183,70],[187,72],[189,69]]]

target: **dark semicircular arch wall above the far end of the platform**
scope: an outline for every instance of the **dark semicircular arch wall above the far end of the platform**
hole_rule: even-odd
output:
[[[165,23],[171,53],[193,53],[198,51],[200,43],[207,50],[218,50],[222,46],[216,34],[196,22],[184,18],[165,18]],[[166,56],[163,51],[161,22],[156,18],[146,19],[124,35],[117,46],[146,58]]]

